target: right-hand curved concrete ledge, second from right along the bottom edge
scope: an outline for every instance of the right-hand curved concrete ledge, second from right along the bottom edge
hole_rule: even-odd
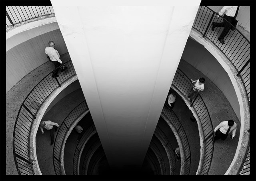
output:
[[[188,109],[191,110],[194,118],[196,118],[196,122],[198,125],[199,139],[200,139],[200,159],[199,159],[199,164],[198,164],[198,169],[196,171],[196,175],[199,175],[201,172],[201,169],[202,169],[202,165],[203,165],[204,148],[205,148],[204,131],[202,128],[202,124],[200,122],[200,119],[199,119],[198,114],[197,114],[196,110],[194,109],[194,107],[190,107],[190,102],[187,100],[186,96],[184,96],[178,89],[176,89],[176,87],[171,86],[171,88],[181,96],[181,98],[184,100],[185,104],[188,106]]]

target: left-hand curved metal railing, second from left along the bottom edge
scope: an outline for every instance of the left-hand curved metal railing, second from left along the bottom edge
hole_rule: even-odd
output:
[[[88,106],[86,104],[86,101],[84,100],[78,106],[76,106],[69,114],[66,116],[66,118],[63,120],[62,124],[59,126],[58,132],[56,134],[54,147],[53,147],[53,153],[52,153],[52,159],[53,159],[53,166],[54,166],[54,172],[56,175],[62,175],[61,170],[61,153],[62,153],[62,144],[64,142],[64,138],[69,131],[69,128],[71,124],[84,112],[88,110]]]

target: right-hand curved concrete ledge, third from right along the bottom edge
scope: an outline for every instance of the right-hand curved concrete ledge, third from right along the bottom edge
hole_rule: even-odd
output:
[[[161,112],[162,118],[165,120],[165,122],[170,126],[174,136],[176,137],[176,140],[178,142],[179,148],[180,148],[180,175],[184,175],[185,173],[185,154],[184,154],[184,148],[182,141],[180,139],[180,135],[178,134],[178,131],[176,128],[172,125],[172,123],[169,121],[168,118],[164,116],[164,114]]]

